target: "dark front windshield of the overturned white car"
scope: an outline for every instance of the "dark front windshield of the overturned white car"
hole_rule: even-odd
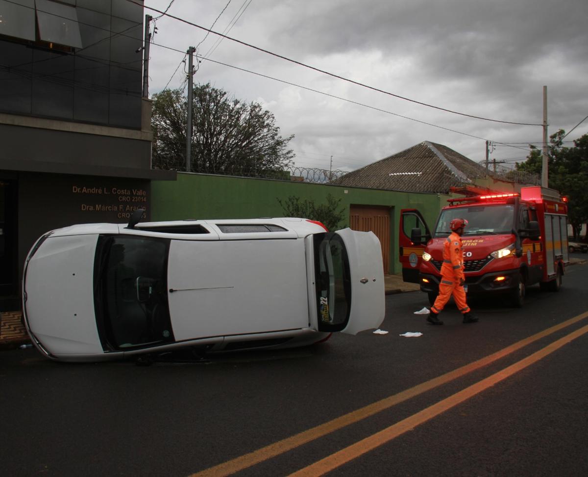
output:
[[[172,342],[167,292],[169,240],[101,236],[96,249],[96,321],[103,346]]]

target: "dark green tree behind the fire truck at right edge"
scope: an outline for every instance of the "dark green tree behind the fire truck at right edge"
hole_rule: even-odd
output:
[[[550,136],[547,155],[549,187],[568,197],[568,221],[572,225],[574,238],[580,233],[582,224],[588,222],[588,134],[573,141],[573,147],[564,147],[562,129]],[[542,153],[530,146],[527,161],[516,164],[517,170],[541,174]]]

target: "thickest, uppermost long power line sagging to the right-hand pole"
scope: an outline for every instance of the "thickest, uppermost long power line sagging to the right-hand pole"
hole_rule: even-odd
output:
[[[126,0],[126,1],[131,2],[133,4],[136,4],[136,5],[143,6],[142,3],[139,4],[135,0]],[[186,19],[183,19],[183,18],[179,18],[178,16],[174,16],[174,15],[170,15],[170,14],[165,14],[165,12],[162,12],[161,10],[158,10],[156,8],[152,8],[151,6],[144,5],[144,8],[147,8],[149,10],[152,10],[152,11],[155,11],[155,12],[158,12],[158,13],[161,13],[162,15],[166,15],[169,18],[173,18],[175,20],[181,21],[181,22],[183,22],[183,23],[185,23],[187,25],[192,25],[192,27],[200,28],[202,30],[208,31],[209,33],[213,33],[215,35],[219,35],[219,37],[230,39],[230,41],[234,41],[234,42],[239,43],[240,45],[243,45],[245,47],[256,49],[256,50],[258,50],[260,52],[266,53],[268,55],[272,55],[273,57],[283,59],[283,60],[288,61],[290,63],[293,63],[293,64],[296,64],[296,65],[302,66],[304,68],[312,69],[313,71],[316,71],[316,72],[319,72],[319,73],[328,75],[328,76],[333,77],[333,78],[337,78],[338,80],[346,81],[346,82],[349,82],[351,84],[355,84],[355,85],[358,85],[358,86],[363,87],[363,88],[367,88],[367,89],[372,90],[372,91],[380,92],[382,94],[386,94],[386,95],[389,95],[389,96],[392,96],[392,97],[395,97],[395,98],[399,98],[400,100],[410,101],[410,102],[413,102],[415,104],[420,104],[422,106],[426,106],[426,107],[433,108],[433,109],[436,109],[436,110],[450,112],[452,114],[457,114],[457,115],[460,115],[460,116],[465,116],[465,117],[468,117],[468,118],[479,119],[479,120],[483,120],[483,121],[500,122],[500,123],[503,123],[503,124],[515,124],[515,125],[521,125],[521,126],[542,126],[542,124],[535,124],[535,123],[530,123],[530,122],[515,122],[515,121],[495,120],[495,119],[485,118],[485,117],[476,116],[476,115],[472,115],[472,114],[466,114],[464,112],[449,110],[447,108],[442,108],[442,107],[435,106],[435,105],[432,105],[432,104],[427,104],[427,103],[422,102],[422,101],[412,100],[410,98],[406,98],[406,97],[403,97],[403,96],[394,94],[394,93],[389,92],[389,91],[380,90],[379,88],[375,88],[375,87],[366,85],[366,84],[361,83],[359,81],[350,80],[349,78],[345,78],[345,77],[342,77],[340,75],[336,75],[336,74],[331,73],[329,71],[325,71],[324,69],[320,69],[320,68],[316,68],[316,67],[307,65],[307,64],[305,64],[303,62],[300,62],[300,61],[297,61],[295,59],[291,59],[291,58],[285,57],[283,55],[279,55],[279,54],[274,53],[272,51],[269,51],[267,49],[256,47],[255,45],[249,44],[249,43],[247,43],[245,41],[241,41],[241,40],[236,39],[236,38],[228,37],[227,35],[224,35],[222,33],[213,31],[211,28],[202,27],[201,25],[195,24],[195,23],[190,22],[190,21],[188,21]]]

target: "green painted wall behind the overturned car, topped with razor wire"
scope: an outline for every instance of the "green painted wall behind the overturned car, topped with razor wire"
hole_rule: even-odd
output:
[[[284,212],[278,198],[285,200],[289,196],[298,196],[319,204],[326,202],[328,194],[341,199],[340,206],[346,208],[347,217],[352,204],[390,207],[391,273],[402,271],[398,261],[397,226],[400,210],[419,209],[432,228],[440,208],[447,203],[446,199],[449,197],[339,185],[178,173],[176,181],[152,181],[151,220],[282,217]],[[346,225],[348,224],[349,218]]]

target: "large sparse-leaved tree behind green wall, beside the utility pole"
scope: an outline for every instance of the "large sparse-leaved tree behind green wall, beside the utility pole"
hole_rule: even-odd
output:
[[[182,90],[153,95],[153,167],[185,170],[187,102]],[[275,117],[210,83],[193,88],[191,171],[272,177],[294,157]]]

